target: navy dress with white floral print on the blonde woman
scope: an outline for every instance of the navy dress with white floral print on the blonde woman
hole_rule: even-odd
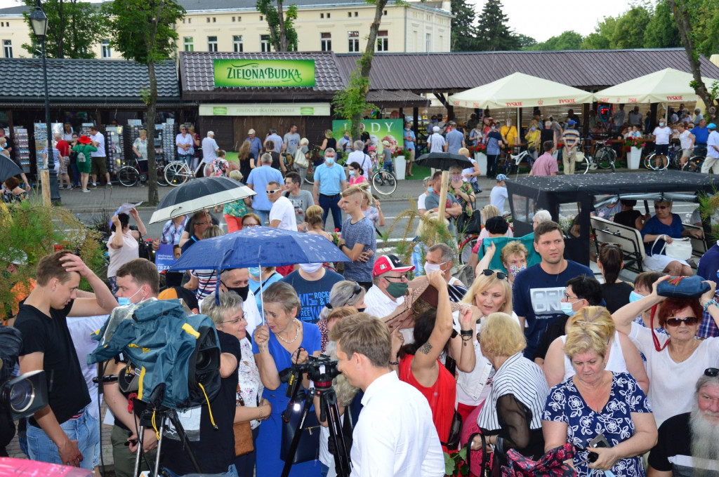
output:
[[[551,389],[542,420],[567,423],[567,442],[577,450],[574,454],[577,477],[604,477],[603,471],[589,468],[588,463],[580,466],[577,463],[587,458],[587,445],[600,432],[612,447],[632,437],[636,432],[632,412],[651,412],[646,395],[632,376],[613,373],[609,401],[602,412],[595,412],[587,406],[572,378]],[[616,477],[646,475],[641,456],[620,459],[611,471]]]

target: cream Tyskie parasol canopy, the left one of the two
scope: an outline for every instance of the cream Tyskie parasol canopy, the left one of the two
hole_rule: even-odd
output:
[[[449,96],[449,103],[462,108],[523,108],[591,101],[592,93],[524,73],[513,73]]]

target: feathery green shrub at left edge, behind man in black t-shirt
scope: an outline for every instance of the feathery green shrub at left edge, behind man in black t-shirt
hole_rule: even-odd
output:
[[[27,256],[27,263],[18,265],[14,274],[0,274],[0,302],[4,304],[12,302],[15,284],[27,284],[30,278],[35,278],[37,261],[52,254],[56,244],[79,254],[88,267],[102,276],[104,251],[100,233],[83,226],[66,208],[45,207],[29,200],[11,206],[0,204],[0,243],[3,271],[9,260],[19,259],[22,254]],[[90,290],[84,280],[81,287]]]

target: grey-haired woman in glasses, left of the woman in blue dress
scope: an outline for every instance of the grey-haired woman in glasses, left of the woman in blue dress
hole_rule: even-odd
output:
[[[247,318],[242,310],[242,298],[235,292],[220,292],[219,305],[215,300],[203,302],[202,312],[215,323],[218,331],[228,333],[239,340],[242,348],[242,360],[237,363],[237,407],[234,412],[234,423],[249,422],[252,429],[252,440],[260,434],[260,421],[270,417],[272,405],[262,397],[265,386],[262,386],[260,371],[257,370],[255,356],[252,354],[252,343],[247,335]],[[255,458],[257,452],[239,455],[234,460],[239,477],[252,477],[255,474]]]

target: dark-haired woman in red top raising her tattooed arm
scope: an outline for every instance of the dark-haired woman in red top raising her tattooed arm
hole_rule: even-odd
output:
[[[429,401],[434,427],[442,448],[446,450],[445,443],[449,438],[454,416],[457,383],[454,376],[439,362],[439,355],[447,347],[454,330],[452,308],[449,305],[447,284],[441,272],[431,272],[428,278],[429,284],[435,287],[438,293],[437,310],[428,310],[416,318],[414,343],[403,346],[399,353],[399,376],[402,381],[416,387]],[[471,341],[474,325],[469,307],[463,308],[460,316],[462,329],[468,330],[468,341]]]

